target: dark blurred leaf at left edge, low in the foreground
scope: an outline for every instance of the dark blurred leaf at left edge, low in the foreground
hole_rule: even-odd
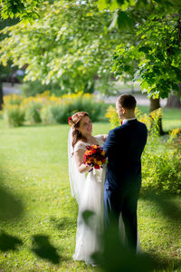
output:
[[[18,246],[23,245],[23,242],[20,238],[11,236],[2,231],[0,234],[0,250],[16,250]]]

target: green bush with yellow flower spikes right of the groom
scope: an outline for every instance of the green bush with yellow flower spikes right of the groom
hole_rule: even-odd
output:
[[[159,112],[158,112],[159,113]],[[157,117],[156,117],[157,116]],[[155,119],[159,114],[155,115]],[[143,188],[161,189],[181,193],[181,148],[174,145],[179,140],[180,130],[173,130],[163,146],[158,136],[157,121],[150,128],[148,143],[142,156]]]

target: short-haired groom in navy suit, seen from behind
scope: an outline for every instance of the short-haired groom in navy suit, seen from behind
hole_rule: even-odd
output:
[[[148,130],[135,117],[136,99],[122,94],[116,109],[122,125],[109,132],[103,145],[108,157],[104,187],[105,228],[116,224],[119,216],[125,226],[129,248],[137,249],[137,203],[141,186],[141,154],[147,142]]]

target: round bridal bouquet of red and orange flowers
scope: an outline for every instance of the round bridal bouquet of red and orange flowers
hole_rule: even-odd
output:
[[[95,169],[100,169],[107,163],[106,153],[99,145],[87,145],[84,153],[84,163]]]

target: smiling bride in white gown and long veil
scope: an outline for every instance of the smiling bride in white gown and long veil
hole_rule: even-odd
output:
[[[69,118],[68,139],[71,195],[79,205],[74,260],[93,264],[91,255],[100,250],[99,237],[103,230],[103,186],[105,168],[92,170],[83,162],[86,145],[102,146],[107,135],[92,136],[92,123],[87,112],[76,112]],[[82,218],[85,210],[93,212],[88,223]]]

